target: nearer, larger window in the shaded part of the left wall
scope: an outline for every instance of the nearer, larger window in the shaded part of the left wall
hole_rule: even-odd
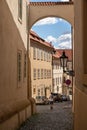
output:
[[[21,74],[22,74],[22,52],[18,51],[17,55],[17,60],[18,60],[18,82],[21,81]]]

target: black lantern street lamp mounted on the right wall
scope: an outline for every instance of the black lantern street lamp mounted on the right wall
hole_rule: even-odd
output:
[[[67,67],[68,56],[65,55],[65,51],[63,51],[60,56],[60,65],[63,67],[63,72],[65,72],[65,67]]]

